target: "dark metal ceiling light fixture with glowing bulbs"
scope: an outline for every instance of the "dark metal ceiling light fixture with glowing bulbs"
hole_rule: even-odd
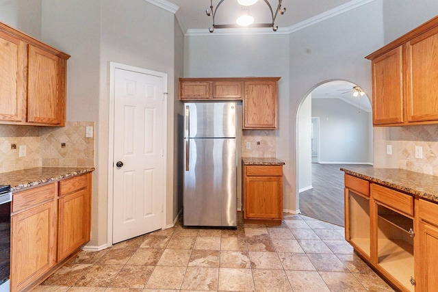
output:
[[[279,13],[285,14],[285,12],[286,12],[286,8],[281,8],[281,2],[283,0],[278,0],[279,4],[276,7],[275,14],[274,14],[274,11],[272,10],[272,6],[268,2],[268,0],[263,0],[266,3],[266,5],[268,5],[268,8],[271,12],[272,23],[253,23],[254,18],[253,18],[253,16],[249,15],[249,9],[247,6],[250,6],[250,5],[257,3],[257,0],[237,0],[237,2],[243,6],[242,12],[244,12],[244,13],[242,13],[242,16],[237,18],[237,21],[236,21],[237,25],[217,25],[216,23],[214,23],[214,17],[216,16],[216,13],[218,12],[218,8],[220,7],[220,4],[222,4],[224,1],[225,0],[220,0],[218,2],[218,5],[216,5],[216,8],[214,8],[213,0],[210,0],[210,8],[207,8],[205,10],[205,13],[207,14],[207,16],[212,16],[212,18],[213,18],[213,27],[209,27],[210,32],[213,32],[214,29],[237,28],[237,27],[240,27],[242,25],[250,26],[250,27],[272,27],[272,30],[276,31],[277,29],[279,29],[279,27],[275,25],[275,18],[277,16],[277,14],[279,14]],[[231,1],[231,0],[227,0],[227,1]]]

